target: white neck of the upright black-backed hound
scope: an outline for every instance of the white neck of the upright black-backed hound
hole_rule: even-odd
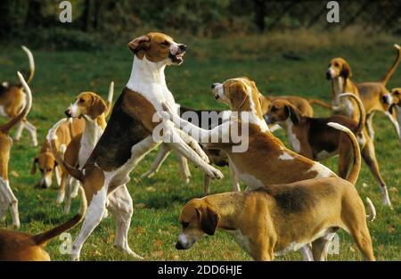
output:
[[[143,56],[143,59],[139,59],[135,55],[127,87],[136,92],[143,92],[143,89],[154,85],[167,87],[164,75],[165,69],[165,62],[150,62],[146,59],[146,56]]]

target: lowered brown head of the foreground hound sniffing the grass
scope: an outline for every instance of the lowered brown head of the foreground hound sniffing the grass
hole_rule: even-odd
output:
[[[181,232],[176,249],[190,249],[204,234],[215,234],[219,220],[220,216],[205,199],[188,201],[179,217]]]

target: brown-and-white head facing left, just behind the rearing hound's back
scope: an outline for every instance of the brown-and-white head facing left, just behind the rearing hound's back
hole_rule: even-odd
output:
[[[96,119],[107,110],[106,103],[93,92],[78,94],[76,101],[68,107],[65,114],[69,118],[80,118],[84,115]]]

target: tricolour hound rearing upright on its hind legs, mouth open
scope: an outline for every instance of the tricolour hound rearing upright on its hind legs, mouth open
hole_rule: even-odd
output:
[[[186,45],[177,44],[165,34],[151,32],[135,38],[128,43],[128,47],[134,53],[131,76],[85,166],[82,169],[73,168],[63,161],[52,141],[55,159],[70,176],[82,183],[88,203],[85,221],[72,246],[71,257],[75,260],[79,259],[88,235],[102,220],[110,193],[123,189],[120,186],[127,184],[131,170],[161,142],[169,142],[174,150],[212,178],[223,177],[218,169],[208,164],[208,156],[193,138],[176,129],[173,123],[161,121],[158,114],[163,110],[161,103],[169,103],[172,108],[176,106],[173,94],[168,90],[164,70],[168,65],[184,62]],[[127,205],[132,213],[132,199],[127,192],[120,191],[118,199],[110,201],[109,206],[114,205]],[[129,248],[127,231],[131,216],[125,212],[118,216],[120,230],[116,233],[114,244],[129,255],[142,258]]]

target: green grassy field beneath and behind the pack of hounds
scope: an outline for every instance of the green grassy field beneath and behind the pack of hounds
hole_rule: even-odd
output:
[[[178,36],[176,40],[187,43],[189,48],[183,65],[168,68],[168,87],[175,94],[177,103],[201,109],[225,108],[215,102],[209,85],[238,76],[254,79],[263,94],[299,94],[328,101],[330,83],[324,79],[324,73],[331,58],[346,58],[354,71],[355,81],[379,80],[394,60],[392,45],[401,43],[399,37],[364,37],[357,31],[346,34],[347,39],[342,36],[340,33],[328,35],[307,31],[217,40]],[[129,39],[127,37],[127,41]],[[0,49],[0,80],[16,81],[16,71],[26,69],[28,65],[26,56],[17,45],[0,46]],[[79,92],[92,90],[105,98],[109,83],[114,80],[117,98],[127,83],[133,59],[124,44],[86,53],[32,51],[37,73],[31,84],[34,104],[29,119],[38,127],[39,141],[48,128],[63,117],[63,111]],[[394,86],[401,86],[401,70],[390,79],[388,88]],[[328,114],[328,111],[315,108],[316,116]],[[394,129],[381,114],[375,116],[374,127],[376,154],[394,210],[381,205],[378,185],[365,165],[356,187],[363,199],[366,196],[372,199],[378,212],[377,219],[369,224],[376,257],[399,260],[401,149]],[[285,142],[282,131],[276,135]],[[29,143],[29,135],[24,132],[21,141],[13,145],[10,180],[20,201],[20,230],[37,234],[64,222],[73,213],[66,216],[61,207],[57,207],[55,189],[34,188],[38,175],[30,176],[29,170],[40,147],[30,147]],[[191,183],[184,185],[176,158],[171,155],[156,176],[142,179],[141,174],[150,167],[155,153],[151,152],[131,173],[128,187],[135,204],[129,233],[131,248],[150,260],[250,260],[231,236],[221,232],[201,239],[192,250],[175,249],[179,229],[177,217],[186,201],[202,196],[202,174],[191,167]],[[337,158],[324,164],[337,170]],[[228,177],[227,168],[222,170]],[[228,178],[214,181],[211,189],[213,193],[230,191],[231,183]],[[77,210],[78,200],[74,201],[72,212]],[[8,216],[6,224],[0,226],[9,225]],[[78,228],[70,233],[75,237]],[[131,260],[113,248],[113,236],[113,220],[108,217],[86,241],[81,259]],[[59,252],[60,245],[61,241],[56,239],[46,249],[54,260],[68,260],[69,255]],[[292,252],[276,259],[299,260],[301,257],[299,252]],[[361,260],[362,257],[348,234],[340,232],[340,254],[330,255],[330,259]]]

